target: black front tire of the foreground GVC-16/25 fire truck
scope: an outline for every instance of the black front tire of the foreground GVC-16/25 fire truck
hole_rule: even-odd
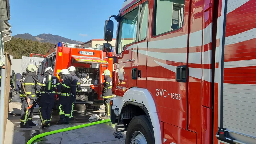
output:
[[[135,116],[132,118],[126,132],[126,138],[125,138],[126,144],[131,144],[132,135],[136,131],[140,131],[143,134],[143,136],[147,141],[147,144],[155,143],[154,132],[152,130],[152,126],[146,115]]]

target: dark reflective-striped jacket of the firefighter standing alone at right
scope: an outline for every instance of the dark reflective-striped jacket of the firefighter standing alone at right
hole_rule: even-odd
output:
[[[104,80],[105,80],[105,82],[103,83],[102,98],[111,99],[113,97],[112,78],[110,76],[106,75]]]

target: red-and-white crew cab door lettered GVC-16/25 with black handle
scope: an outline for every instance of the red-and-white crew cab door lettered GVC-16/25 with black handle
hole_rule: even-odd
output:
[[[189,1],[156,0],[149,7],[153,10],[149,31],[153,31],[148,32],[147,51],[138,53],[147,55],[147,89],[164,122],[164,133],[171,136],[170,125],[187,129]]]

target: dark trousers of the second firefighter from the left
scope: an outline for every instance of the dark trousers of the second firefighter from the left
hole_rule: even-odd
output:
[[[52,120],[52,109],[55,102],[55,93],[43,93],[40,97],[39,115],[42,123]]]

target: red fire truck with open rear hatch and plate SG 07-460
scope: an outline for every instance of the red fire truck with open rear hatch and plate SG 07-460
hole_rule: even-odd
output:
[[[112,53],[108,53],[112,56]],[[99,109],[104,104],[102,99],[103,71],[113,71],[113,59],[97,48],[83,47],[76,44],[59,42],[50,48],[45,55],[45,62],[41,63],[42,72],[52,67],[55,76],[57,72],[70,66],[76,68],[76,75],[81,82],[81,96],[76,96],[75,104],[85,104],[87,109]]]

